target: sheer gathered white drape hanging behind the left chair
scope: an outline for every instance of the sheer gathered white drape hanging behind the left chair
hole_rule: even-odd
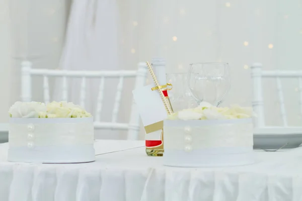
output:
[[[71,5],[65,46],[59,68],[66,70],[116,70],[117,53],[117,5],[115,0],[74,0]],[[79,104],[79,80],[73,79],[68,101]],[[88,80],[86,110],[94,113],[99,80]],[[112,83],[106,83],[106,86]],[[108,87],[107,87],[108,88]],[[55,99],[60,99],[57,84]],[[112,96],[114,90],[105,91]],[[112,94],[112,95],[111,95]],[[108,98],[106,98],[108,99]],[[110,105],[107,100],[104,105]],[[109,111],[108,111],[109,112]]]

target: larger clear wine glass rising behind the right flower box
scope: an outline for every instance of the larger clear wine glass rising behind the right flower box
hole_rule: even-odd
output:
[[[231,78],[228,63],[192,63],[188,85],[198,105],[208,102],[218,106],[229,91]]]

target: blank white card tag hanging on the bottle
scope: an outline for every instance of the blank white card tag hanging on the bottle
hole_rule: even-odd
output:
[[[168,116],[159,92],[151,90],[152,87],[154,87],[154,84],[132,91],[144,127],[163,121]]]

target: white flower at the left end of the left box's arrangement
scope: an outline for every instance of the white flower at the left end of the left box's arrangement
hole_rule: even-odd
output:
[[[46,106],[39,102],[16,102],[9,110],[13,118],[38,118],[39,112],[46,112]]]

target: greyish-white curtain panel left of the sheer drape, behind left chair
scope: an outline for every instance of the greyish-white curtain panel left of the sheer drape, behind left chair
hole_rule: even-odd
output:
[[[9,87],[11,104],[13,104],[16,100],[20,100],[21,61],[31,61],[33,68],[58,68],[70,2],[68,0],[5,1],[10,8],[12,65]],[[33,100],[43,101],[41,83],[41,78],[33,79]]]

